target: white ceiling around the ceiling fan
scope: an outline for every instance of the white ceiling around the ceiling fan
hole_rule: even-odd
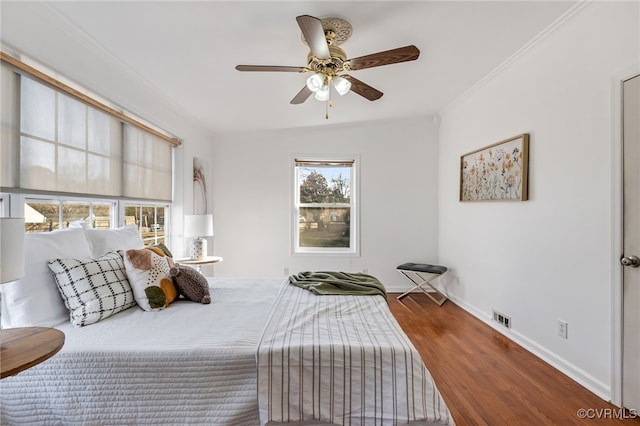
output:
[[[172,114],[213,134],[438,113],[534,39],[576,1],[54,1],[0,2],[2,49],[37,59],[100,96],[163,125]],[[334,97],[330,118],[297,73],[237,64],[305,66],[295,17],[353,26],[351,58],[416,45],[417,61],[354,77],[377,101]]]

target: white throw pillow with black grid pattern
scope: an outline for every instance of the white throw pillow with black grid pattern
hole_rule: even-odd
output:
[[[76,327],[96,323],[136,304],[118,252],[97,259],[53,259],[49,269]]]

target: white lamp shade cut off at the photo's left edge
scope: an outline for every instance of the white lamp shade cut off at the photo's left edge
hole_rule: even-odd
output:
[[[0,218],[0,284],[24,275],[24,219]]]

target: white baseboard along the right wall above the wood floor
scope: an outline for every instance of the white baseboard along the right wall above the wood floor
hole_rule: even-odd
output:
[[[475,306],[453,296],[450,296],[450,300],[474,317],[478,318],[480,321],[489,325],[491,328],[493,328],[503,336],[522,346],[524,349],[528,350],[547,364],[551,365],[556,370],[567,375],[571,379],[578,382],[580,385],[584,386],[589,391],[598,395],[603,400],[607,402],[611,401],[611,386],[596,379],[586,371],[578,368],[577,366],[568,362],[566,359],[559,357],[557,354],[549,351],[545,347],[540,346],[538,343],[532,341],[531,339],[518,333],[517,331],[506,329],[498,325],[495,321],[493,321],[492,316],[489,316],[488,314],[482,312]]]

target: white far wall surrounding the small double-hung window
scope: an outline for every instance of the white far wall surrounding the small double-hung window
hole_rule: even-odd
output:
[[[360,256],[291,254],[292,155],[360,158]],[[437,129],[427,117],[227,136],[213,158],[217,276],[367,269],[388,289],[403,262],[437,258]],[[297,218],[294,218],[297,221]]]

